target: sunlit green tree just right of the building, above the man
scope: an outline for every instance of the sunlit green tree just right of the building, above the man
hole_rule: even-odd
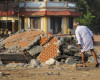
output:
[[[95,16],[89,11],[90,7],[87,4],[86,0],[77,0],[78,11],[82,14],[80,18],[77,18],[77,21],[91,28],[91,23]]]

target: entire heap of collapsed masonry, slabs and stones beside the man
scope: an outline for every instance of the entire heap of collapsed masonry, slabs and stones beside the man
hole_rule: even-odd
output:
[[[92,55],[86,55],[85,60],[90,62]],[[14,68],[82,63],[74,37],[46,35],[40,30],[32,29],[20,30],[6,39],[1,38],[0,60],[0,65]]]

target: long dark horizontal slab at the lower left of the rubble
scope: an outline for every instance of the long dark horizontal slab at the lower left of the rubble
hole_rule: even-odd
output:
[[[11,63],[11,62],[23,62],[23,63],[28,63],[31,59],[32,56],[29,54],[24,55],[24,54],[12,54],[12,53],[5,53],[5,54],[0,54],[0,58],[4,64]]]

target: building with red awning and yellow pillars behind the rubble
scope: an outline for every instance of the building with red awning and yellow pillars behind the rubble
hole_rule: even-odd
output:
[[[74,33],[73,20],[81,16],[75,2],[64,0],[3,0],[0,7],[0,28],[10,31],[40,29],[46,34]],[[9,6],[12,6],[10,8]],[[5,24],[5,26],[4,26]]]

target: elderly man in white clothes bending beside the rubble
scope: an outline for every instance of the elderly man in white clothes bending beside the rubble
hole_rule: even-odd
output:
[[[86,67],[85,64],[85,51],[90,50],[93,57],[95,58],[96,61],[96,67],[99,66],[96,54],[94,52],[94,46],[93,46],[93,33],[92,31],[87,28],[86,26],[80,26],[78,22],[74,22],[73,26],[76,28],[75,34],[76,38],[78,40],[78,45],[79,48],[81,49],[81,55],[82,55],[82,61],[83,61],[83,67]]]

